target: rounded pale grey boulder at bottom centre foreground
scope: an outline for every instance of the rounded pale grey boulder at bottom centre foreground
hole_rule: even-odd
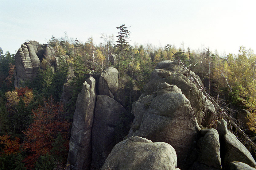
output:
[[[102,170],[175,169],[176,165],[176,153],[171,145],[132,136],[113,148]]]

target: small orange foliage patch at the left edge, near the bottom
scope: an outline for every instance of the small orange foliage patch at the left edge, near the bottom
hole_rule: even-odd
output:
[[[9,135],[3,135],[0,136],[0,146],[2,146],[2,152],[0,152],[1,154],[17,154],[19,152],[20,149],[20,144],[19,144],[20,139],[15,137],[14,140],[10,139]]]

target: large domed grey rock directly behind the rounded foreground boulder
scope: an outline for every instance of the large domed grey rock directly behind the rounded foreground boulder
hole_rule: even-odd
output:
[[[190,102],[177,91],[140,97],[133,104],[138,110],[134,113],[135,119],[128,137],[140,136],[153,142],[169,143],[176,151],[178,168],[186,169],[186,159],[195,147],[200,127]]]

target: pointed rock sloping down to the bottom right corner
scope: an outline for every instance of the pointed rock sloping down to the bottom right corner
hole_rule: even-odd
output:
[[[220,139],[221,150],[224,153],[222,165],[227,168],[230,162],[238,161],[250,165],[251,167],[256,167],[256,162],[254,161],[249,150],[236,138],[236,136],[227,130],[227,122],[221,120],[218,122],[217,127]]]

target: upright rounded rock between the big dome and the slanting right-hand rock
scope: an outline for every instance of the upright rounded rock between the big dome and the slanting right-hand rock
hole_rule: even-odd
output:
[[[219,134],[216,129],[210,129],[202,140],[198,162],[221,169],[220,152],[219,152]]]

